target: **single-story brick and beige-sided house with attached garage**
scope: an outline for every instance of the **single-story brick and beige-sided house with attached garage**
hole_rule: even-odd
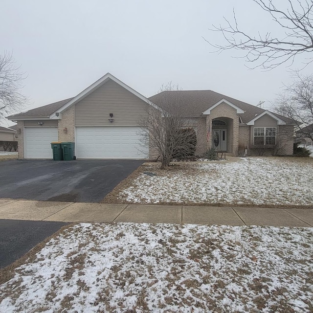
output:
[[[282,147],[293,153],[294,122],[211,90],[165,91],[186,109],[197,133],[197,153],[210,146],[238,154],[239,147]],[[51,141],[75,142],[76,158],[148,158],[138,120],[160,110],[162,93],[146,98],[110,73],[77,96],[7,117],[18,123],[19,158],[52,158]],[[284,136],[280,136],[284,134]]]

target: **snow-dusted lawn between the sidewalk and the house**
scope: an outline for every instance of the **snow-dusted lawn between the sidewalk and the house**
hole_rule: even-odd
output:
[[[149,165],[143,171],[156,176],[139,173],[129,179],[128,185],[115,191],[116,201],[239,206],[313,204],[312,158],[249,157],[231,163],[175,164],[169,170]]]

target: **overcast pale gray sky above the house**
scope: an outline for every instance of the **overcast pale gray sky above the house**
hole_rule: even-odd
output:
[[[281,31],[252,0],[1,0],[0,53],[13,51],[28,74],[25,111],[75,96],[107,72],[147,97],[172,81],[268,104],[290,82],[289,69],[249,70],[232,57],[242,54],[210,53],[202,38],[223,43],[208,28],[231,19],[233,8],[251,33]]]

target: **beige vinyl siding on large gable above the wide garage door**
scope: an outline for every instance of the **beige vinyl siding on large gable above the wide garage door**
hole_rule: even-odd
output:
[[[136,126],[148,104],[112,80],[75,104],[75,126]],[[113,123],[110,123],[110,113]]]

